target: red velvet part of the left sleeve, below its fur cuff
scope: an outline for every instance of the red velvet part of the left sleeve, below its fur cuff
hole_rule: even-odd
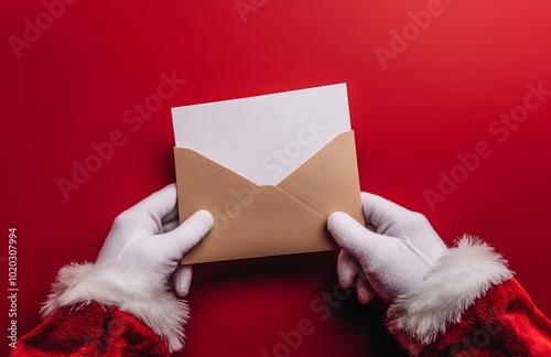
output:
[[[60,309],[24,335],[18,356],[170,356],[165,342],[116,306],[88,303]]]

